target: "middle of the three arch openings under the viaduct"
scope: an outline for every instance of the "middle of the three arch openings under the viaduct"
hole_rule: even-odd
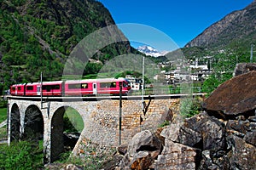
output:
[[[37,105],[26,108],[22,129],[22,139],[38,141],[44,138],[44,117]]]

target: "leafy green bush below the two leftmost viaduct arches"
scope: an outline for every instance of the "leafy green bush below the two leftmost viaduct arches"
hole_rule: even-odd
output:
[[[37,169],[43,167],[43,150],[26,141],[0,145],[0,169]]]

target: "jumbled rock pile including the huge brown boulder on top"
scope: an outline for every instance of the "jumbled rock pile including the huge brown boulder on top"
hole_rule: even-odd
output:
[[[116,169],[255,169],[255,82],[256,71],[234,77],[206,100],[206,111],[158,135],[137,133]]]

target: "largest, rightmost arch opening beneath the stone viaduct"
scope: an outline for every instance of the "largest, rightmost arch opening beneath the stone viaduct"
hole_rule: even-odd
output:
[[[82,116],[79,114],[79,111],[74,109],[71,106],[61,106],[58,108],[51,120],[51,136],[50,136],[50,141],[51,141],[51,146],[50,146],[50,160],[55,161],[59,158],[61,153],[69,147],[71,150],[73,150],[75,144],[77,143],[80,133],[83,130],[79,129],[77,133],[64,133],[64,130],[66,130],[67,124],[68,126],[73,126],[73,128],[77,128],[75,124],[72,123],[72,120],[70,120],[71,117],[68,117],[68,122],[67,122],[67,117],[64,117],[65,112],[68,109],[72,109],[72,111],[76,111],[76,113],[80,116],[80,121],[83,123],[83,128],[84,128],[84,121],[82,119]]]

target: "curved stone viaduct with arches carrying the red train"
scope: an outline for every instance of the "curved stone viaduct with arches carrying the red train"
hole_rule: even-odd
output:
[[[44,162],[55,161],[64,150],[63,115],[71,107],[79,112],[84,122],[73,153],[79,152],[79,143],[84,140],[118,146],[120,141],[124,144],[141,130],[158,127],[168,111],[178,108],[179,98],[179,95],[148,96],[144,97],[142,105],[141,96],[123,96],[120,109],[119,96],[49,97],[43,100],[40,97],[9,97],[8,141],[32,135],[44,139]]]

